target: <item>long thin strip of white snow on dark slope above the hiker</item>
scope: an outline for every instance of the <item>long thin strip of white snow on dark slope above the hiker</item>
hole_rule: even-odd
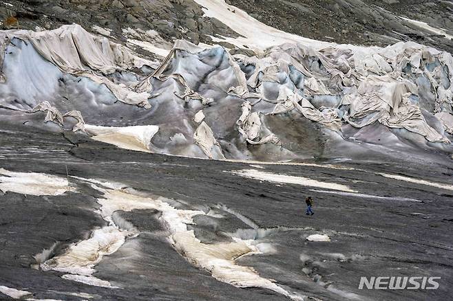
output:
[[[262,181],[269,181],[273,183],[288,183],[288,184],[297,184],[302,186],[312,186],[318,188],[328,188],[332,190],[341,190],[346,192],[357,192],[352,190],[346,185],[316,181],[306,177],[295,177],[289,175],[278,175],[271,172],[264,172],[255,169],[244,169],[231,172],[235,175],[240,175],[241,177],[248,177],[251,179],[257,179]]]

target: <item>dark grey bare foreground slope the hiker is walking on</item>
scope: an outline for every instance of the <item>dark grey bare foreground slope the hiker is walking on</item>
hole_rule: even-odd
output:
[[[120,289],[64,280],[58,271],[36,269],[33,257],[56,243],[61,254],[105,225],[96,214],[102,194],[76,177],[115,181],[173,200],[179,208],[217,210],[189,228],[203,243],[235,237],[262,244],[262,254],[243,256],[238,265],[308,300],[446,300],[452,294],[453,165],[246,164],[169,157],[115,148],[70,134],[2,124],[0,166],[70,177],[77,190],[59,196],[2,192],[0,280],[28,291],[24,298],[83,300],[285,300],[267,289],[240,289],[215,280],[167,241],[168,225],[158,210],[118,211],[140,234],[96,265],[94,276]],[[369,158],[368,158],[369,159]],[[67,168],[67,173],[66,173]],[[231,171],[255,169],[337,183],[361,195],[330,188],[247,179]],[[411,183],[382,174],[410,179]],[[444,188],[434,187],[444,183]],[[315,215],[304,214],[304,197],[315,199]],[[20,212],[20,214],[17,214]],[[307,241],[311,234],[330,242]],[[35,267],[35,268],[32,268]],[[439,276],[434,291],[359,290],[361,276]],[[76,295],[78,293],[78,295]],[[5,298],[3,296],[2,298]]]

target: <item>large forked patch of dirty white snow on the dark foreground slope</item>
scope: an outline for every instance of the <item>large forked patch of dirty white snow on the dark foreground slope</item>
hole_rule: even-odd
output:
[[[85,179],[85,181],[90,180]],[[96,183],[104,182],[96,181]],[[179,210],[170,205],[171,201],[168,199],[150,197],[148,194],[131,188],[101,188],[93,182],[92,187],[104,194],[103,199],[98,199],[98,203],[101,204],[98,212],[106,221],[110,222],[110,225],[101,230],[95,230],[91,238],[73,245],[63,256],[48,260],[46,264],[50,269],[72,273],[63,278],[108,287],[108,282],[104,283],[103,280],[91,276],[94,265],[102,259],[103,255],[115,252],[124,243],[124,239],[131,234],[114,225],[112,214],[117,210],[156,209],[162,212],[161,219],[167,224],[171,233],[168,237],[169,242],[193,265],[206,269],[214,278],[236,287],[262,287],[281,293],[293,300],[299,300],[298,296],[282,289],[271,280],[262,278],[253,268],[236,265],[236,258],[260,253],[258,247],[253,245],[254,242],[234,238],[235,241],[231,243],[201,243],[193,230],[187,229],[187,225],[193,223],[193,216],[204,214],[203,211]],[[106,231],[106,228],[109,231]],[[271,251],[271,247],[268,245],[260,245],[260,247],[266,252]]]

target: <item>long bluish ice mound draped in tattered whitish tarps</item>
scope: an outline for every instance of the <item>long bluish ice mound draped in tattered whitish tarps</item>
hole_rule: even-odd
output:
[[[207,14],[225,22],[233,17],[248,20],[242,12],[232,16],[218,2],[222,5],[210,4]],[[268,30],[253,26],[260,34]],[[152,142],[152,150],[159,153],[213,159],[313,157],[317,148],[323,153],[325,144],[347,138],[346,129],[360,131],[376,124],[381,125],[377,131],[387,129],[383,135],[404,139],[373,143],[401,149],[409,140],[408,148],[417,144],[421,151],[453,153],[451,54],[417,43],[357,47],[269,32],[275,41],[260,45],[256,56],[176,41],[156,65],[79,25],[3,31],[0,43],[8,51],[1,70],[0,114],[10,122],[23,122],[44,111],[45,121],[59,126],[75,118],[74,130],[83,130],[84,122],[158,126],[155,135],[138,134],[145,147],[129,143],[137,140],[129,131],[107,134],[103,141],[143,151]],[[154,71],[144,74],[145,69],[139,69],[144,65]],[[23,89],[23,80],[32,85]],[[68,113],[59,113],[63,110]],[[355,138],[367,141],[375,132],[367,133]],[[314,145],[307,147],[308,142]]]

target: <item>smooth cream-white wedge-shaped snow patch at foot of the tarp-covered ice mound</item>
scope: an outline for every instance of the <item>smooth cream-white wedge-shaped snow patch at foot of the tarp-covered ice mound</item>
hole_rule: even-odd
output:
[[[146,153],[150,153],[149,144],[158,130],[159,127],[154,125],[114,127],[85,124],[85,131],[94,135],[94,140]]]

